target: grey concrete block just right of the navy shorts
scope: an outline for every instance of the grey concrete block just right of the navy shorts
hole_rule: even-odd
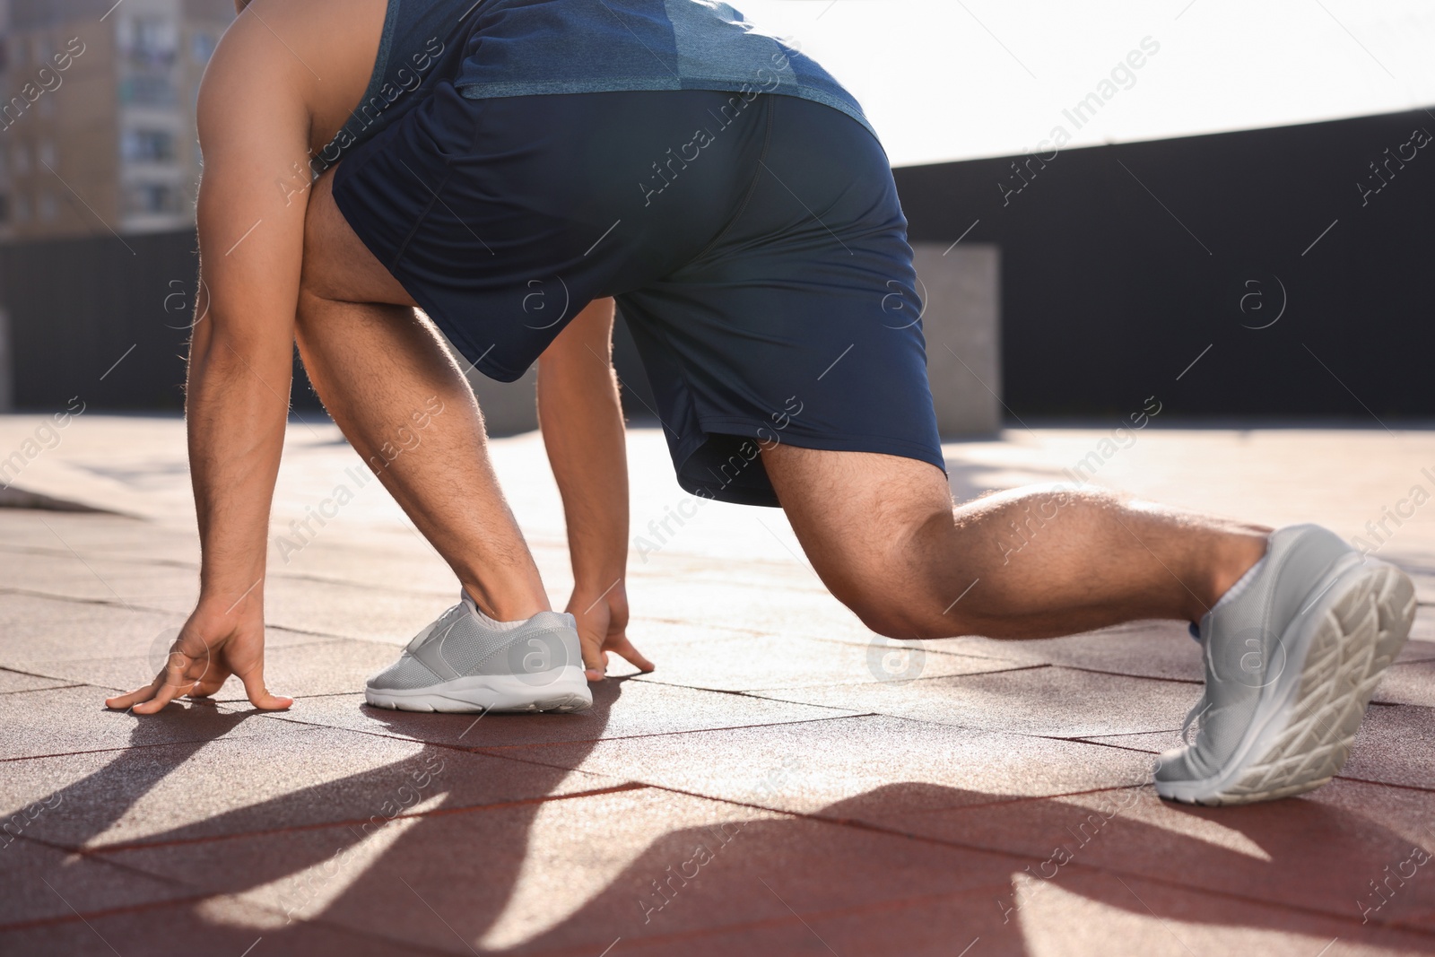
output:
[[[914,242],[927,376],[943,438],[1002,429],[1002,260],[996,245]]]

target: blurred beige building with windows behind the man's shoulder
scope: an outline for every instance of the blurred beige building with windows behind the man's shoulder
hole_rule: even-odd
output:
[[[9,0],[0,227],[14,241],[194,222],[195,93],[228,0]]]

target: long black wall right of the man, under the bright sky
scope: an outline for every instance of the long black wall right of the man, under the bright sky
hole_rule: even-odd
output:
[[[1025,185],[1013,158],[913,166],[897,185],[914,241],[979,221],[963,241],[1000,245],[1017,415],[1157,395],[1174,415],[1370,423],[1435,415],[1435,145],[1402,149],[1416,128],[1435,116],[1069,149],[1029,161]],[[1413,159],[1363,197],[1388,148]],[[1250,329],[1276,319],[1281,286],[1284,314]]]

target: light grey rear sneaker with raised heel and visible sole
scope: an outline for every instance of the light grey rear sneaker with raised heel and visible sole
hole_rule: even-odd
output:
[[[1415,621],[1415,585],[1319,525],[1271,534],[1254,577],[1201,618],[1195,743],[1161,755],[1157,793],[1247,803],[1340,770],[1385,667]]]

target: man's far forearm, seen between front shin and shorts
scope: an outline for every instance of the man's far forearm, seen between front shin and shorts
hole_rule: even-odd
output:
[[[611,330],[611,300],[593,303],[538,362],[538,422],[578,593],[603,593],[627,567],[627,446]]]

